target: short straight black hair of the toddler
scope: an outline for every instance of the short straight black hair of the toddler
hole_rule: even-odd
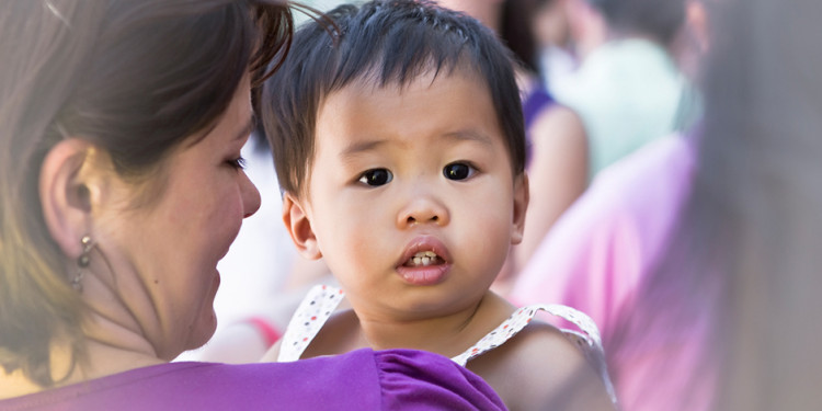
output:
[[[486,83],[514,172],[523,172],[520,90],[511,53],[492,31],[426,0],[345,4],[327,16],[333,24],[318,19],[297,31],[287,58],[263,89],[261,116],[283,191],[304,194],[317,114],[329,94],[355,81],[403,87],[426,73],[455,70]]]

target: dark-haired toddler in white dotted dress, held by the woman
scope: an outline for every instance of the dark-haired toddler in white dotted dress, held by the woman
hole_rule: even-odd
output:
[[[505,46],[427,1],[342,5],[328,16],[333,24],[296,33],[261,113],[285,225],[342,289],[315,288],[266,358],[426,350],[479,374],[512,410],[613,409],[584,315],[517,309],[489,290],[528,204]],[[335,312],[343,298],[351,309]],[[532,322],[539,310],[582,332]]]

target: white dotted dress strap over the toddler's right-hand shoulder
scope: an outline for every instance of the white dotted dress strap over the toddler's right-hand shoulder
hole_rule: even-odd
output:
[[[489,352],[509,341],[512,336],[516,335],[517,332],[527,326],[534,316],[538,311],[546,311],[552,316],[566,319],[569,322],[575,324],[582,332],[560,329],[562,333],[571,340],[574,345],[580,347],[585,358],[593,365],[603,383],[605,389],[608,391],[610,400],[616,404],[616,390],[610,381],[608,375],[607,365],[605,363],[605,354],[602,347],[602,338],[600,336],[600,330],[596,328],[596,323],[591,317],[586,316],[582,311],[573,309],[568,306],[559,304],[536,304],[526,307],[522,307],[514,311],[511,317],[503,321],[494,330],[486,334],[480,341],[473,346],[469,347],[463,354],[459,354],[452,359],[465,366],[471,358],[475,358],[486,352]]]

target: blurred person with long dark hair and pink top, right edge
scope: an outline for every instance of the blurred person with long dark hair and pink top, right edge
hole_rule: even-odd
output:
[[[625,410],[819,409],[822,3],[708,9],[704,119],[601,173],[512,298],[590,313]]]

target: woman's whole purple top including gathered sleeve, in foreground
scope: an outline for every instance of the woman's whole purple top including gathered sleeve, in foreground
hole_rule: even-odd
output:
[[[0,410],[505,410],[478,376],[412,350],[294,363],[169,363],[0,400]]]

